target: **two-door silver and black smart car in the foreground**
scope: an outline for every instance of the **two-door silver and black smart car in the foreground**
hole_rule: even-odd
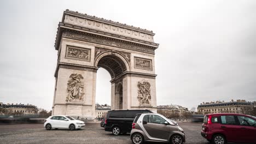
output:
[[[144,141],[182,144],[185,134],[181,127],[158,113],[141,113],[132,123],[131,140],[135,144]]]

